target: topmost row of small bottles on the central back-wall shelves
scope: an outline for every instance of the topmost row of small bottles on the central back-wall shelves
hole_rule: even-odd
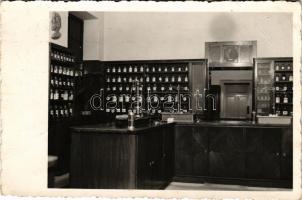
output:
[[[138,73],[138,72],[188,72],[188,66],[153,66],[153,67],[144,67],[140,66],[113,66],[107,67],[107,73]]]

